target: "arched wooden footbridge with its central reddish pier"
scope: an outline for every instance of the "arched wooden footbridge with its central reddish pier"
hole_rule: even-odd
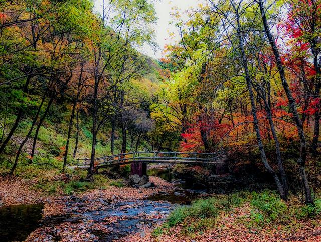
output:
[[[107,168],[124,164],[131,164],[131,174],[146,175],[147,163],[174,163],[174,164],[212,164],[224,165],[226,159],[225,149],[215,153],[184,153],[184,152],[130,152],[125,154],[109,155],[95,159],[95,167]],[[77,159],[78,168],[88,168],[90,159]]]

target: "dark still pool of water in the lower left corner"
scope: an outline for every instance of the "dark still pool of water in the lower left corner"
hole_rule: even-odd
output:
[[[0,241],[24,241],[39,226],[43,208],[43,204],[0,208]]]

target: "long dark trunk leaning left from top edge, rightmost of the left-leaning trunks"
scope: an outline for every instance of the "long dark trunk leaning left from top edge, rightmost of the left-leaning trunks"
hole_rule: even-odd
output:
[[[304,130],[303,130],[303,125],[302,125],[302,120],[300,119],[297,109],[296,109],[296,104],[294,101],[294,98],[292,96],[291,90],[289,88],[289,85],[287,83],[286,77],[285,77],[285,72],[284,72],[284,66],[278,51],[278,48],[275,43],[275,39],[273,38],[273,35],[270,31],[269,24],[267,22],[267,18],[265,16],[265,8],[263,4],[263,0],[258,0],[259,7],[260,7],[260,12],[261,12],[261,17],[264,25],[264,30],[267,35],[267,38],[270,42],[270,45],[273,50],[273,54],[276,60],[276,65],[280,74],[281,82],[283,89],[286,93],[287,99],[290,104],[290,109],[293,114],[293,120],[296,124],[297,130],[298,130],[298,135],[300,138],[300,157],[297,160],[297,164],[299,165],[299,173],[300,177],[303,183],[304,187],[304,192],[305,192],[305,203],[313,203],[313,198],[311,195],[310,187],[307,181],[306,173],[305,173],[305,161],[306,161],[306,141],[305,141],[305,135],[304,135]]]

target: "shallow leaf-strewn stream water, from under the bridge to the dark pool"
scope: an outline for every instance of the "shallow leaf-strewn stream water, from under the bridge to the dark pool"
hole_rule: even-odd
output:
[[[153,228],[161,224],[175,206],[188,205],[205,192],[191,189],[193,184],[179,180],[171,169],[149,169],[148,175],[173,182],[176,189],[158,191],[134,201],[71,196],[65,201],[67,214],[61,217],[42,218],[43,204],[2,207],[0,241],[24,241],[37,228],[46,229],[45,241],[59,241],[66,236],[66,229],[59,227],[63,223],[70,223],[69,227],[80,234],[84,233],[86,237],[83,235],[81,241],[116,241],[133,232],[139,232],[143,237],[142,228]]]

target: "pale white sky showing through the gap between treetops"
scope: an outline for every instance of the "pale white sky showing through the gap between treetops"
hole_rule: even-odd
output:
[[[155,0],[155,10],[158,18],[155,26],[156,43],[159,49],[155,52],[151,47],[144,46],[144,48],[139,51],[155,59],[161,58],[164,45],[173,41],[169,39],[169,33],[174,33],[174,40],[179,38],[178,30],[174,25],[169,24],[172,20],[170,15],[172,7],[177,6],[180,12],[184,12],[197,7],[200,2],[201,0]],[[95,0],[96,11],[101,10],[101,4],[102,0]]]

